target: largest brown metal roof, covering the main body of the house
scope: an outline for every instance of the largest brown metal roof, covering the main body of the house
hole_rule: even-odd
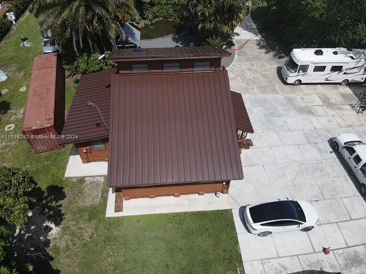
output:
[[[108,187],[242,179],[226,70],[112,76]]]

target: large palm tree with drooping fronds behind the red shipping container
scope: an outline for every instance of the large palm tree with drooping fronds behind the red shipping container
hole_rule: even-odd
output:
[[[112,50],[116,41],[124,39],[123,22],[138,17],[134,0],[34,0],[31,11],[38,17],[38,26],[45,34],[50,29],[59,48],[72,42],[79,55],[84,42],[90,51],[98,51],[108,39]]]

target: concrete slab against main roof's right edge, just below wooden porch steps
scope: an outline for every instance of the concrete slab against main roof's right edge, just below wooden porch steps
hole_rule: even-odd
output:
[[[276,158],[271,149],[247,149],[240,154],[242,166],[271,164],[276,162]]]

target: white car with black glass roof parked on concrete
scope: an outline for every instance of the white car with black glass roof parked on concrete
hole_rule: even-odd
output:
[[[248,205],[244,219],[251,233],[260,237],[271,233],[310,231],[318,222],[318,213],[307,201],[274,201]]]

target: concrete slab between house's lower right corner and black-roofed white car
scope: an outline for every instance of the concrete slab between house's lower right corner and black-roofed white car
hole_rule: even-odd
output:
[[[246,184],[245,180],[246,179],[243,179],[244,184]],[[229,188],[229,194],[230,194],[229,202],[230,202],[230,207],[232,209],[239,208],[242,205],[246,205],[246,204],[259,203],[259,199],[255,192],[254,186],[245,186],[245,185],[233,186],[233,182],[235,182],[235,181],[232,181],[230,183],[230,188]],[[260,185],[260,184],[257,184],[257,185]]]

